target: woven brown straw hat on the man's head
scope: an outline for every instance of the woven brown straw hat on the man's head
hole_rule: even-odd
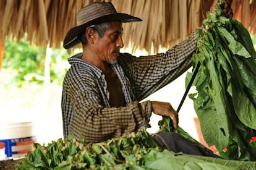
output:
[[[137,22],[138,17],[117,13],[111,2],[95,2],[83,7],[77,13],[77,27],[71,28],[64,39],[64,48],[69,49],[80,43],[78,36],[90,25],[102,22]]]

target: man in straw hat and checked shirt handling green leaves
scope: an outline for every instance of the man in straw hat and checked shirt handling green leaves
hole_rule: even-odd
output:
[[[152,112],[170,116],[177,127],[178,114],[171,104],[140,101],[189,69],[197,31],[166,53],[141,57],[119,53],[124,46],[122,22],[139,21],[117,13],[111,2],[90,4],[77,14],[78,26],[70,29],[64,40],[66,49],[83,45],[83,53],[69,58],[71,67],[63,83],[65,138],[72,135],[91,143],[121,137],[147,127]],[[215,156],[202,153],[177,134],[160,134],[156,140],[161,143],[163,138],[171,138],[166,142],[169,150]]]

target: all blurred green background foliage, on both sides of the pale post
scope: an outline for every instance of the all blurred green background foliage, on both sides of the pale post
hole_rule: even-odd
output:
[[[51,49],[50,81],[61,84],[67,68],[67,51]],[[15,38],[6,40],[6,51],[2,69],[14,72],[11,83],[19,87],[24,82],[42,84],[45,74],[46,49],[31,45],[25,38],[17,41]],[[66,64],[65,64],[66,63]]]

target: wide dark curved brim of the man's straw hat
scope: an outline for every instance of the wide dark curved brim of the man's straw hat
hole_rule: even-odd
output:
[[[87,23],[83,23],[82,25],[71,28],[69,30],[69,32],[67,32],[67,35],[64,39],[63,47],[65,49],[69,49],[69,48],[72,48],[73,46],[79,44],[80,40],[78,39],[78,36],[83,31],[85,31],[85,28],[89,27],[90,25],[95,25],[95,24],[103,23],[103,22],[112,22],[112,21],[139,22],[139,21],[142,21],[142,19],[140,19],[138,17],[134,17],[129,14],[123,14],[123,13],[109,14],[109,15],[105,15],[103,17],[98,17],[96,19],[90,20]]]

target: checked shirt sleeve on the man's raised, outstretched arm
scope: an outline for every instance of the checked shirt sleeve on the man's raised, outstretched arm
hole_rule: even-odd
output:
[[[196,49],[197,32],[195,30],[165,53],[153,56],[132,56],[124,53],[120,63],[136,89],[137,98],[143,100],[156,90],[164,87],[186,72],[192,66],[192,54]]]

